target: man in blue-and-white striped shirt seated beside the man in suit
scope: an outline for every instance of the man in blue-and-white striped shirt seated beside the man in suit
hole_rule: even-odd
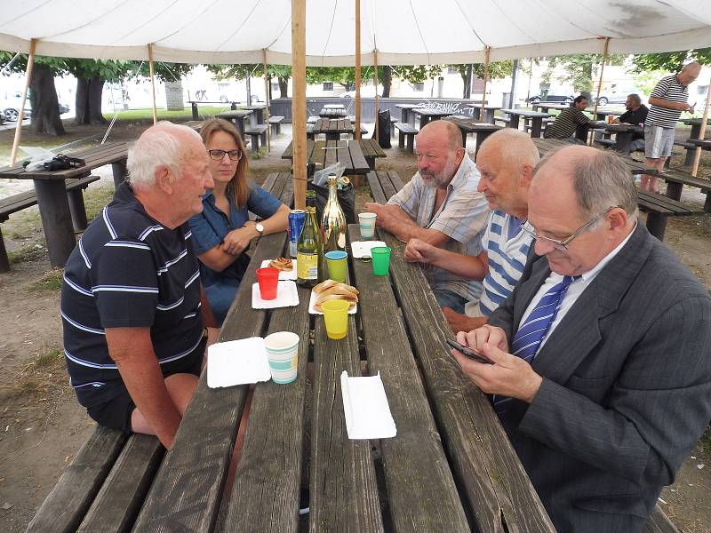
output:
[[[483,293],[459,314],[443,306],[451,329],[469,331],[481,327],[487,317],[514,290],[523,273],[532,237],[522,230],[528,213],[528,187],[539,162],[531,137],[510,128],[491,134],[476,156],[481,173],[477,191],[493,210],[483,236],[483,252],[467,256],[441,250],[417,239],[405,248],[405,259],[427,263],[471,279],[483,279]]]

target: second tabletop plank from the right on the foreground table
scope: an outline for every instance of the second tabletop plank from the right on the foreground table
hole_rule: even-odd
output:
[[[352,240],[359,227],[348,226]],[[429,410],[388,276],[353,261],[371,375],[380,372],[397,436],[382,439],[387,502],[395,531],[469,531],[435,420]],[[383,317],[388,320],[383,320]]]

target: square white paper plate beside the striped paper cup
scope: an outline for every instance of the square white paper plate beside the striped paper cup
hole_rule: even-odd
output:
[[[207,386],[244,385],[271,379],[261,337],[219,342],[207,348]]]

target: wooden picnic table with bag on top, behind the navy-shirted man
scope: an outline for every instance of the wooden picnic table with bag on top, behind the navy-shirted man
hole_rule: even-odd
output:
[[[63,267],[76,245],[65,182],[68,179],[84,178],[93,169],[110,164],[114,183],[118,186],[126,175],[128,146],[124,142],[106,143],[68,155],[84,159],[84,166],[66,171],[26,171],[21,164],[15,164],[0,169],[2,179],[33,180],[52,267]]]

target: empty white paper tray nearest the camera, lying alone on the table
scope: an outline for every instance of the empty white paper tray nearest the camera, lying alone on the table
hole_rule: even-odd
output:
[[[387,439],[397,434],[380,372],[377,376],[349,378],[343,370],[340,390],[349,439]]]

